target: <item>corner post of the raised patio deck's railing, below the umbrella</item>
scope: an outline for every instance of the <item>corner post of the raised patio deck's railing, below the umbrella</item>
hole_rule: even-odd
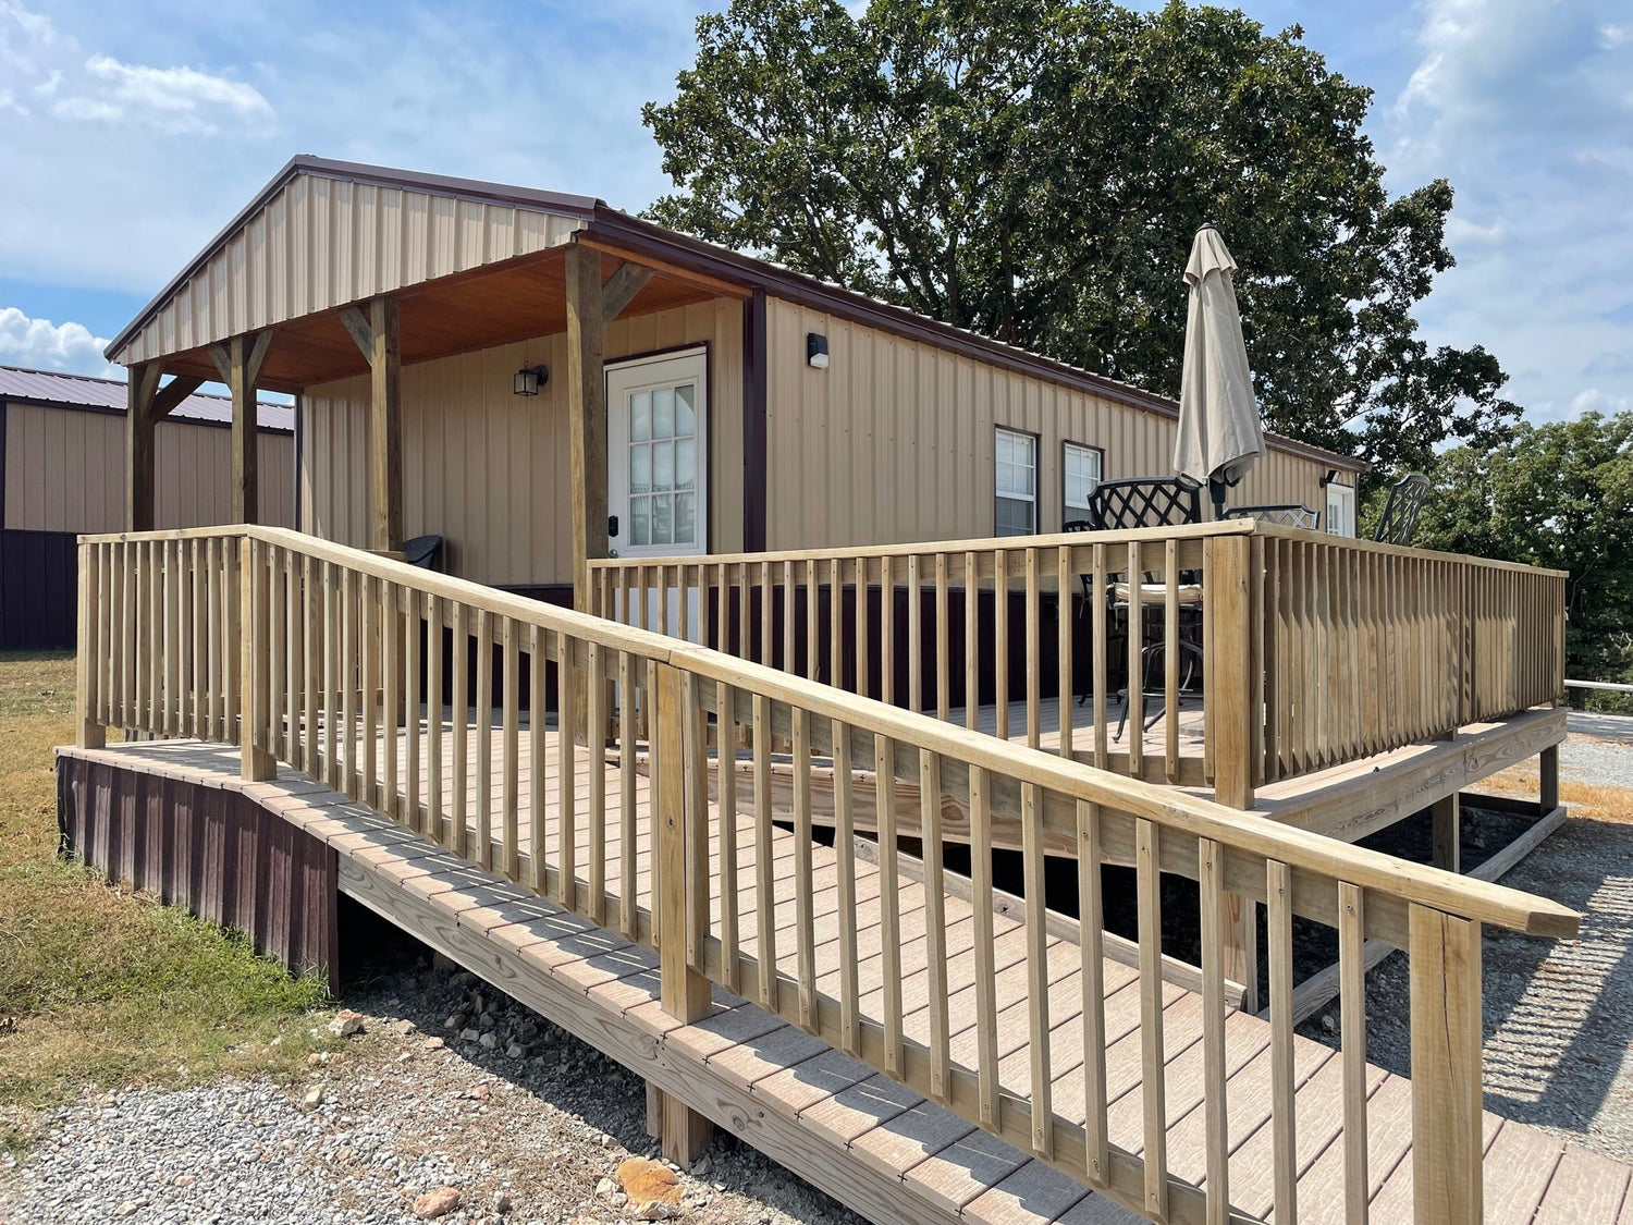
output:
[[[1220,536],[1208,542],[1207,614],[1213,621],[1208,712],[1213,727],[1213,799],[1253,808],[1253,541]],[[1259,908],[1239,893],[1225,895],[1225,977],[1239,982],[1244,1011],[1259,1011]]]

